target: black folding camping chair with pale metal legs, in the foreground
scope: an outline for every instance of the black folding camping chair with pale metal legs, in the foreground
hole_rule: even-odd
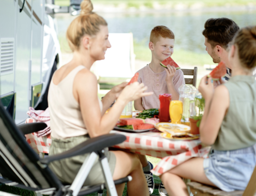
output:
[[[0,183],[34,191],[35,195],[77,196],[96,191],[100,193],[106,188],[109,195],[117,196],[115,184],[131,180],[128,176],[113,181],[104,155],[104,148],[122,143],[126,139],[124,135],[107,134],[91,138],[64,153],[40,159],[28,145],[24,134],[42,130],[45,126],[45,123],[29,123],[17,127],[0,102]],[[84,161],[72,184],[63,184],[48,167],[52,161],[85,153],[90,153],[90,156]],[[83,186],[98,156],[105,183]]]

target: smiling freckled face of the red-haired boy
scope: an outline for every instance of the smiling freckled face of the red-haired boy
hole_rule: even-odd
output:
[[[158,42],[154,44],[154,54],[160,61],[172,56],[174,47],[174,39],[160,37]]]

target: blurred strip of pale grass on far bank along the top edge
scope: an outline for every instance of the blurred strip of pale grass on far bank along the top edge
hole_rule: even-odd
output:
[[[139,8],[140,6],[146,6],[148,8],[153,8],[154,4],[160,5],[170,5],[175,7],[178,4],[185,4],[188,8],[195,4],[202,4],[204,7],[213,7],[213,6],[239,6],[239,5],[256,5],[255,0],[91,0],[93,4],[108,4],[113,5],[114,7],[119,4],[126,4],[126,7],[135,7]],[[69,6],[69,0],[55,0],[56,5]]]

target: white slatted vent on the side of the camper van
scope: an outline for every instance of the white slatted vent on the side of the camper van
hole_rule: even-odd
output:
[[[0,76],[13,73],[13,69],[14,69],[14,38],[1,38]]]

